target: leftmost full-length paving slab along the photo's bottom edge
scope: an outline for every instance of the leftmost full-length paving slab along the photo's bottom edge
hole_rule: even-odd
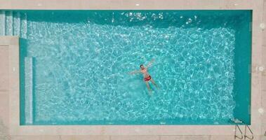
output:
[[[60,140],[59,136],[11,136],[11,140]]]

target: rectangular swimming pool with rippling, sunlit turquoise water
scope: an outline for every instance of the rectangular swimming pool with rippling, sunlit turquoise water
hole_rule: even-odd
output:
[[[21,125],[250,123],[251,10],[4,14],[22,37]],[[128,72],[151,59],[150,96]]]

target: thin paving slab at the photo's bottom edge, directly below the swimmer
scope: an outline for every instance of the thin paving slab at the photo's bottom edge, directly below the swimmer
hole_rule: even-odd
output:
[[[111,136],[110,140],[159,140],[159,136]]]

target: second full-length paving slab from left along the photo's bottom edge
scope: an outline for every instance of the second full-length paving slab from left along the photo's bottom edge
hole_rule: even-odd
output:
[[[61,136],[60,140],[109,140],[109,136]]]

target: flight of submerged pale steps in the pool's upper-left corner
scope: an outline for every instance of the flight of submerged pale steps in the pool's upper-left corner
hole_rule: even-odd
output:
[[[27,38],[27,14],[12,10],[0,10],[0,36]]]

